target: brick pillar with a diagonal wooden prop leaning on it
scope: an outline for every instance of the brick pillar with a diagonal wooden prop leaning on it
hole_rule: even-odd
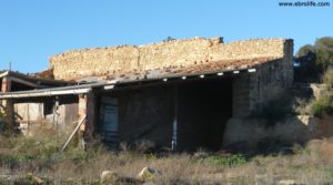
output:
[[[93,92],[79,95],[79,120],[87,116],[85,121],[80,127],[84,140],[93,137],[95,124],[95,95]]]

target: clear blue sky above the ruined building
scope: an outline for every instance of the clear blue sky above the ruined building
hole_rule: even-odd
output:
[[[37,72],[68,50],[147,44],[167,37],[292,38],[295,50],[333,35],[327,8],[279,0],[0,0],[0,70]]]

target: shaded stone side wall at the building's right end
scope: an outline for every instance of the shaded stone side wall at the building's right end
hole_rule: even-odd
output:
[[[254,73],[242,73],[233,84],[233,116],[260,112],[293,83],[293,42],[284,42],[283,58],[269,61]]]

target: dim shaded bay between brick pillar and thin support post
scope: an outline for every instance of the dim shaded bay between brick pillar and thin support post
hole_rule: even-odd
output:
[[[172,136],[172,86],[153,85],[119,90],[98,94],[99,130],[102,136],[105,132],[103,122],[110,122],[103,110],[103,97],[118,101],[118,141],[132,146],[141,142],[153,144],[154,148],[171,147]],[[110,113],[111,114],[111,113]],[[108,146],[118,143],[117,140],[105,142]]]

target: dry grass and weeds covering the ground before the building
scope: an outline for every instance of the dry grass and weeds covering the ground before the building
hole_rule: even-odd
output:
[[[143,167],[150,166],[161,172],[150,181],[155,184],[276,184],[280,179],[313,185],[333,183],[333,138],[295,146],[293,155],[248,157],[202,151],[194,155],[147,154],[142,143],[138,144],[139,152],[123,146],[124,151],[112,153],[94,144],[87,151],[72,145],[59,153],[65,136],[57,136],[58,131],[52,127],[38,130],[46,131],[30,137],[0,137],[0,176],[26,181],[33,174],[43,178],[44,184],[101,184],[103,171],[135,179]]]

